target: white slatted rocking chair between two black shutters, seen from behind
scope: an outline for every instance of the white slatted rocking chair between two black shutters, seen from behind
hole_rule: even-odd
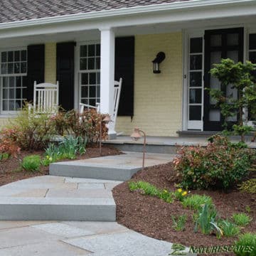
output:
[[[28,113],[33,114],[56,114],[58,112],[59,97],[58,81],[56,85],[43,82],[36,84],[34,82],[33,105],[28,105]]]

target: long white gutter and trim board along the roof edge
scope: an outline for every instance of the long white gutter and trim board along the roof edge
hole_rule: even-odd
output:
[[[0,23],[0,38],[156,23],[206,21],[255,14],[255,0],[196,0]]]

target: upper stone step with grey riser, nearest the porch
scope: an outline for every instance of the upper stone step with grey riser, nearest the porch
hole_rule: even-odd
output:
[[[124,152],[117,156],[104,156],[94,159],[65,161],[50,164],[50,175],[76,178],[100,178],[114,181],[127,181],[142,169],[142,153]],[[173,154],[147,153],[145,166],[166,164],[172,161]]]

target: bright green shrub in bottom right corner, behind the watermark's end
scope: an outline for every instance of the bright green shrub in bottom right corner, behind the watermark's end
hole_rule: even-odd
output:
[[[237,248],[234,250],[237,256],[255,256],[256,255],[256,234],[245,233],[240,235],[239,240],[235,242]],[[245,252],[245,248],[247,252]]]

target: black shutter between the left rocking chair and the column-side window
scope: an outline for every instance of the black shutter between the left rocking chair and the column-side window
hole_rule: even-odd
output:
[[[57,43],[59,104],[64,110],[74,108],[74,53],[74,42]]]

